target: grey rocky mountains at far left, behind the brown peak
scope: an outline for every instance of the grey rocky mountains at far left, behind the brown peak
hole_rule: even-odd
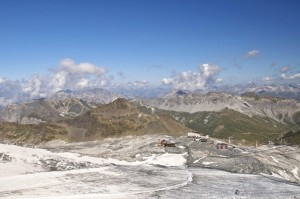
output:
[[[117,94],[100,88],[86,91],[59,91],[49,98],[29,100],[2,107],[0,120],[21,124],[55,122],[74,118],[99,104],[111,102],[117,96]]]

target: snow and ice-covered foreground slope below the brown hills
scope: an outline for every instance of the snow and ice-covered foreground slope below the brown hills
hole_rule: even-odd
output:
[[[19,199],[300,197],[300,187],[289,183],[279,175],[234,174],[212,168],[200,168],[196,165],[187,167],[188,150],[183,143],[178,143],[177,147],[164,148],[153,145],[158,138],[157,136],[110,138],[73,144],[56,141],[47,145],[52,151],[0,144],[0,197]],[[188,143],[190,141],[185,144],[189,145]],[[109,157],[110,153],[107,150],[114,152],[113,157]],[[190,157],[192,161],[195,160],[194,156],[196,157],[193,150]],[[298,152],[297,149],[294,150],[292,152]],[[206,153],[203,150],[198,152],[199,155]],[[244,152],[245,150],[242,150],[241,154],[245,154]],[[100,157],[101,154],[107,154],[108,157]],[[198,164],[210,166],[216,165],[215,161],[218,161],[220,166],[224,165],[225,156],[209,156],[207,158],[214,160],[202,158]],[[278,164],[280,166],[284,164],[280,156],[282,154],[267,159],[274,165],[277,162],[282,163]],[[124,157],[131,161],[123,160]],[[244,156],[237,156],[231,160],[234,163],[235,159],[239,161],[244,160],[243,158]],[[297,160],[293,160],[292,163],[297,164],[298,156],[293,158]],[[288,159],[284,160],[285,166],[290,164]],[[236,164],[235,168],[251,166],[251,162],[247,161],[244,164]],[[292,167],[295,176],[298,175],[296,166],[298,168],[298,165]]]

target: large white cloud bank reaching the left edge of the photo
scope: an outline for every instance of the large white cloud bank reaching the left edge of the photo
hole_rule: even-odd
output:
[[[89,62],[76,63],[72,59],[63,59],[50,72],[46,76],[34,75],[22,81],[0,78],[0,105],[47,97],[60,90],[98,88],[111,83],[105,68]]]

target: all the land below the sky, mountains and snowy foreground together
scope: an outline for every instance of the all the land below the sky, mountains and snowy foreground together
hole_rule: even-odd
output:
[[[300,198],[295,100],[186,92],[102,99],[88,92],[80,94],[85,101],[78,94],[2,111],[0,197]]]

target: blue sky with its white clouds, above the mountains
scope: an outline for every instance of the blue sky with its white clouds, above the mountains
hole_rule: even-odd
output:
[[[47,82],[53,91],[128,82],[184,89],[300,82],[298,0],[0,4],[0,83],[22,80],[34,94]]]

